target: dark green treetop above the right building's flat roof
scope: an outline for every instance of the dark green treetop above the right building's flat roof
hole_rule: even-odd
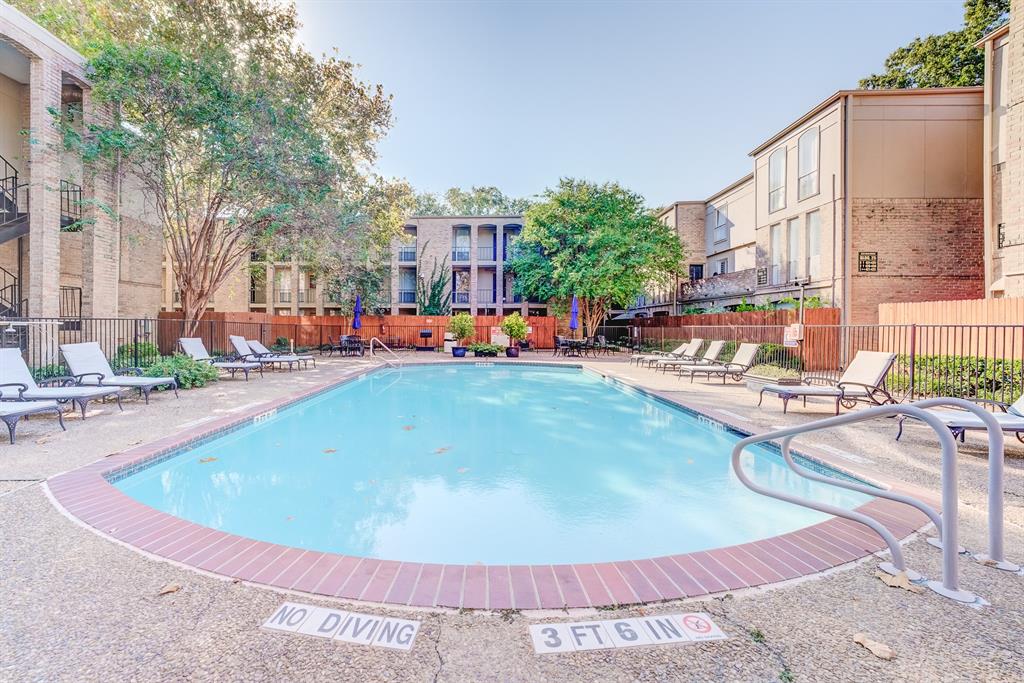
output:
[[[964,28],[938,36],[914,38],[885,61],[886,71],[861,79],[860,87],[946,88],[982,85],[985,55],[975,47],[985,34],[1001,24],[1011,0],[966,0]]]

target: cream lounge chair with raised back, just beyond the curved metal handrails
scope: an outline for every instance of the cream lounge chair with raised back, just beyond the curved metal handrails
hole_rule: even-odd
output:
[[[765,392],[782,399],[783,414],[791,398],[803,398],[806,405],[808,396],[835,398],[836,415],[839,415],[840,403],[846,408],[853,408],[858,400],[874,405],[896,403],[898,401],[885,387],[886,375],[895,361],[895,353],[857,351],[838,381],[827,377],[805,377],[802,384],[768,384],[761,389],[758,405],[764,400]]]

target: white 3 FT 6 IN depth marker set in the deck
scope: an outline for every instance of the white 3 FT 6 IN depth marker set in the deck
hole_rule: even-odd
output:
[[[529,627],[529,635],[538,654],[697,643],[728,638],[705,612],[601,622],[535,624]]]

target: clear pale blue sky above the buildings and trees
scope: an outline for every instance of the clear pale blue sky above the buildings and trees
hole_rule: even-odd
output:
[[[748,153],[959,0],[349,2],[300,0],[302,39],[394,95],[379,170],[417,189],[531,196],[617,180],[652,206],[705,199]]]

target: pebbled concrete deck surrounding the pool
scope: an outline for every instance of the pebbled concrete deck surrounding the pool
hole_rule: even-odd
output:
[[[418,359],[423,359],[422,357]],[[436,358],[440,359],[440,358]],[[524,359],[534,359],[532,354]],[[541,352],[536,359],[549,360]],[[472,360],[470,360],[472,361]],[[578,362],[578,360],[571,360]],[[463,361],[465,362],[465,361]],[[615,359],[584,365],[707,410],[752,428],[824,417],[828,407],[794,404],[788,416],[742,386],[700,381],[690,385]],[[707,611],[730,640],[687,647],[545,655],[534,654],[527,625],[570,618],[558,611],[501,612],[421,609],[360,604],[361,612],[423,621],[409,653],[378,651],[315,639],[267,633],[259,625],[285,599],[321,605],[351,604],[282,593],[199,573],[152,559],[101,538],[60,514],[41,481],[140,442],[157,440],[237,415],[297,389],[323,385],[372,367],[366,359],[325,360],[316,370],[268,374],[249,383],[223,381],[155,397],[150,407],[126,401],[124,414],[93,408],[69,431],[50,420],[19,427],[18,444],[0,450],[0,589],[7,596],[0,621],[0,678],[75,679],[220,677],[245,679],[368,678],[393,680],[1014,680],[1024,676],[1024,578],[961,561],[962,584],[991,607],[956,606],[930,593],[887,588],[873,577],[877,562],[860,562],[814,580],[770,589],[739,589],[716,598],[644,607],[569,609],[571,618],[639,613]],[[213,405],[211,411],[210,405]],[[90,407],[92,408],[92,407]],[[232,413],[233,411],[233,413]],[[851,469],[880,474],[927,490],[937,489],[938,450],[930,432],[910,427],[893,441],[895,425],[841,428],[808,437],[808,443]],[[985,467],[983,440],[969,435],[962,446],[962,543],[982,550]],[[1019,444],[1008,441],[1007,550],[1024,555],[1024,468]],[[870,463],[864,463],[867,459]],[[939,553],[922,540],[905,547],[911,567],[939,574]],[[158,596],[174,583],[179,591]],[[413,614],[412,616],[410,616]],[[588,616],[588,617],[591,617]],[[892,661],[853,643],[864,632],[897,651]],[[930,648],[935,648],[934,651]]]

